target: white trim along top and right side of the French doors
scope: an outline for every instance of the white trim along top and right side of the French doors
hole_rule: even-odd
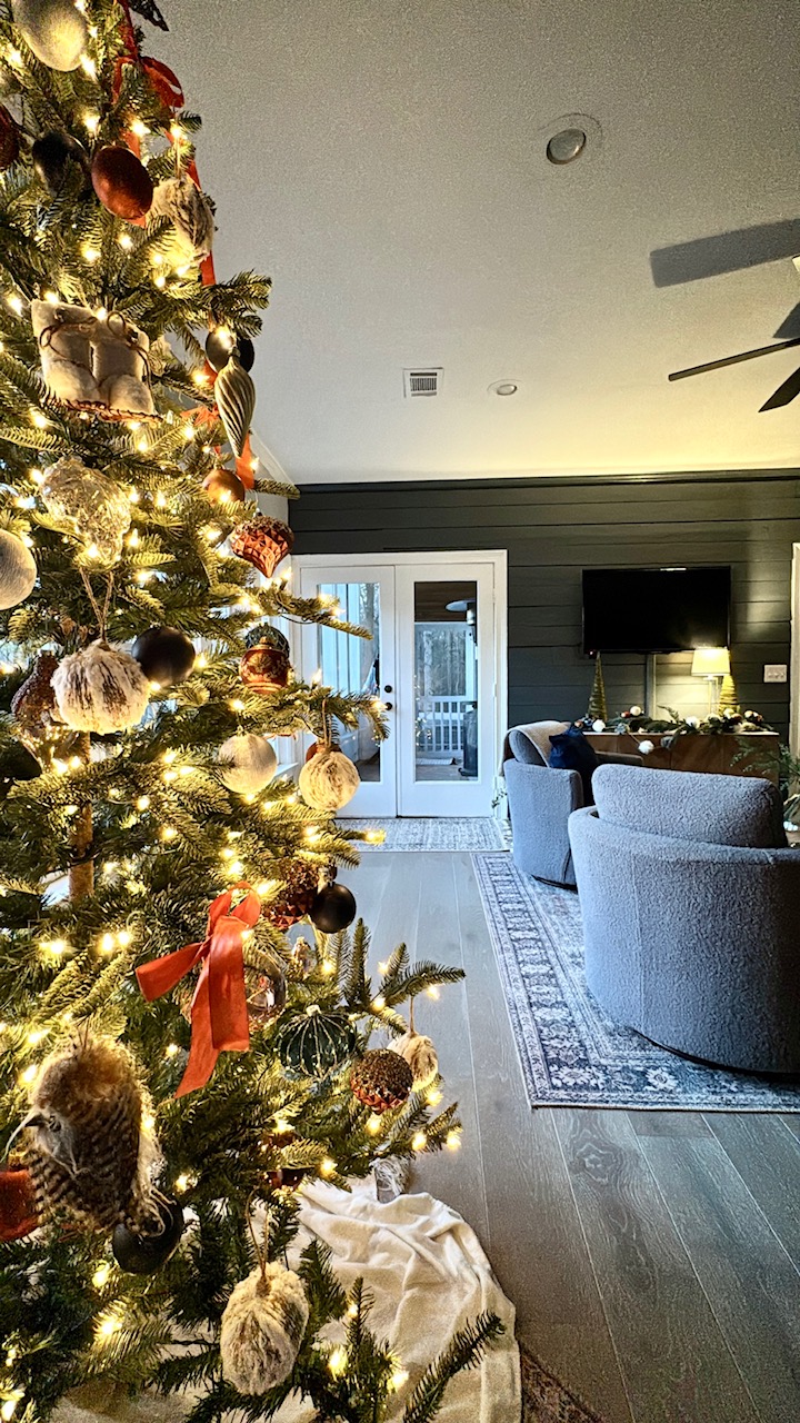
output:
[[[292,565],[298,585],[303,569],[346,564],[354,576],[364,568],[401,566],[424,569],[428,578],[446,576],[453,564],[488,564],[494,569],[494,764],[493,787],[500,787],[497,767],[508,726],[508,552],[500,549],[424,549],[414,554],[296,554]]]

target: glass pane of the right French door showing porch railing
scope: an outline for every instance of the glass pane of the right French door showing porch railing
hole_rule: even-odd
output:
[[[417,781],[478,774],[477,583],[414,583]]]

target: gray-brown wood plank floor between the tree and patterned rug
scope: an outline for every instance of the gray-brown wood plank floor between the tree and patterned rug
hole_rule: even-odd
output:
[[[531,1110],[470,855],[347,881],[374,963],[404,941],[467,972],[417,1005],[464,1144],[411,1190],[475,1228],[520,1338],[604,1423],[800,1423],[800,1118]]]

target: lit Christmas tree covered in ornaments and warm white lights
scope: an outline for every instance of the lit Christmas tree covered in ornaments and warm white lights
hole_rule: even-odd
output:
[[[401,1009],[460,973],[400,946],[367,975],[336,730],[383,736],[381,706],[299,680],[282,628],[364,633],[279,569],[270,283],[216,279],[199,120],[130,9],[164,27],[0,3],[0,1417],[112,1379],[196,1423],[295,1389],[376,1423],[400,1365],[367,1294],[286,1249],[305,1180],[458,1144]],[[269,739],[300,731],[298,791]],[[498,1329],[454,1336],[409,1423]]]

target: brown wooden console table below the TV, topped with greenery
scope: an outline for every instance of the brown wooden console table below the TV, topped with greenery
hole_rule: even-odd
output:
[[[720,731],[717,736],[696,733],[675,736],[672,744],[669,731],[586,731],[586,741],[591,741],[595,751],[615,751],[623,756],[635,756],[639,741],[652,741],[653,750],[643,757],[645,766],[659,771],[713,771],[716,776],[763,776],[777,785],[779,778],[779,747],[777,731],[743,731],[733,736]],[[757,768],[749,760],[735,757],[742,751],[752,751],[749,760],[759,760]],[[770,763],[767,766],[766,763]]]

